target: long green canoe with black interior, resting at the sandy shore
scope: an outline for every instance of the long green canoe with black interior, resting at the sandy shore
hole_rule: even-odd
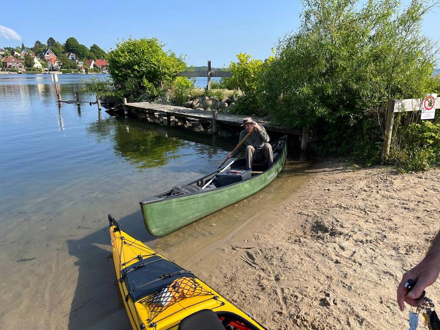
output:
[[[244,171],[245,158],[227,169],[216,170],[204,177],[140,202],[145,227],[153,236],[164,236],[204,216],[237,203],[266,187],[280,173],[287,153],[287,136],[272,143],[274,164],[253,164],[252,175],[245,180],[223,185],[220,177]],[[228,163],[228,162],[227,162]],[[225,170],[225,171],[222,171]],[[219,174],[222,171],[226,175]],[[250,175],[250,173],[248,173]],[[213,179],[213,180],[212,180]],[[230,178],[227,178],[228,180]],[[212,180],[212,181],[211,181]],[[210,184],[207,183],[211,181]],[[207,185],[206,187],[204,187]],[[223,185],[223,186],[221,186]],[[202,187],[204,187],[202,189]]]

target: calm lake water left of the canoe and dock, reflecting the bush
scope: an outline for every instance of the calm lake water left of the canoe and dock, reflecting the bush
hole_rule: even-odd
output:
[[[88,77],[60,75],[63,100]],[[236,142],[59,109],[50,75],[0,75],[0,139],[1,329],[86,329],[117,310],[107,214],[154,245],[139,200],[216,169]]]

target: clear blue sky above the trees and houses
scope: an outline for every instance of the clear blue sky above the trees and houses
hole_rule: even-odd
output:
[[[408,1],[407,1],[408,2]],[[264,60],[279,38],[300,25],[299,0],[223,1],[38,1],[14,2],[13,12],[0,12],[0,47],[49,37],[64,43],[75,37],[88,47],[108,51],[122,39],[157,37],[166,50],[186,55],[188,65],[228,66],[240,52]],[[440,8],[425,16],[422,30],[440,40]]]

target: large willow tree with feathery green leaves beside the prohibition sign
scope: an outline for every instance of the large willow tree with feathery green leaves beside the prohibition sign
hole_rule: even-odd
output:
[[[421,33],[432,6],[304,0],[299,30],[262,70],[262,106],[291,127],[318,127],[326,150],[376,160],[388,100],[433,91],[437,51]]]

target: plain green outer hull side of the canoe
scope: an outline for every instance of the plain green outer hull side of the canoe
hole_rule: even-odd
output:
[[[153,236],[164,236],[211,213],[237,203],[269,185],[281,172],[287,147],[267,171],[251,179],[221,188],[157,202],[140,202],[145,227]]]

